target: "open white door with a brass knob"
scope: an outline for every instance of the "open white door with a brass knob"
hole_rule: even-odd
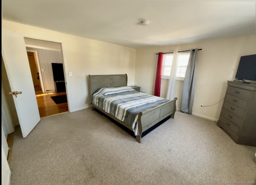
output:
[[[36,93],[23,36],[2,27],[2,57],[23,137],[40,121]],[[21,92],[21,93],[20,93]]]

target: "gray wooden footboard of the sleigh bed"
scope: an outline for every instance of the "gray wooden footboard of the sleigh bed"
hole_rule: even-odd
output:
[[[177,98],[175,97],[172,101],[168,101],[158,107],[139,113],[138,130],[140,135],[136,136],[136,141],[140,143],[142,133],[166,117],[170,116],[174,119],[176,100]]]

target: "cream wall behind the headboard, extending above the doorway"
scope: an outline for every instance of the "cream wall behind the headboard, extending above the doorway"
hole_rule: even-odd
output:
[[[2,26],[23,35],[62,42],[70,111],[90,107],[88,75],[127,74],[128,85],[134,85],[136,50],[97,40],[46,30],[2,20]]]

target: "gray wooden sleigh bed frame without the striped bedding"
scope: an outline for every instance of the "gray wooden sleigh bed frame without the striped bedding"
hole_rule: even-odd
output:
[[[116,87],[123,87],[127,86],[127,74],[120,74],[120,75],[89,75],[90,79],[90,94],[92,94],[98,90],[99,88],[116,88]],[[176,100],[174,98],[171,101],[163,103],[157,107],[152,109],[148,109],[146,111],[140,112],[138,115],[138,131],[140,135],[136,136],[136,141],[140,143],[142,133],[160,121],[167,119],[167,117],[174,118],[174,114],[176,112]],[[107,113],[100,107],[92,104],[92,109],[98,109],[102,113],[108,115],[110,118],[114,119],[118,123],[124,125],[128,129],[132,130],[132,128],[127,125],[125,122],[120,121],[113,115]]]

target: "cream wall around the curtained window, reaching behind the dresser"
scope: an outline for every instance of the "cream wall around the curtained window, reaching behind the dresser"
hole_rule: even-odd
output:
[[[241,56],[256,54],[256,35],[238,38],[209,40],[173,46],[149,47],[136,50],[135,85],[154,93],[155,75],[159,52],[202,48],[198,52],[196,90],[192,114],[217,121],[222,102],[200,109],[200,104],[212,105],[226,92],[227,80],[234,80]],[[166,97],[168,80],[162,80],[161,96]],[[174,97],[180,97],[183,82],[176,80]]]

